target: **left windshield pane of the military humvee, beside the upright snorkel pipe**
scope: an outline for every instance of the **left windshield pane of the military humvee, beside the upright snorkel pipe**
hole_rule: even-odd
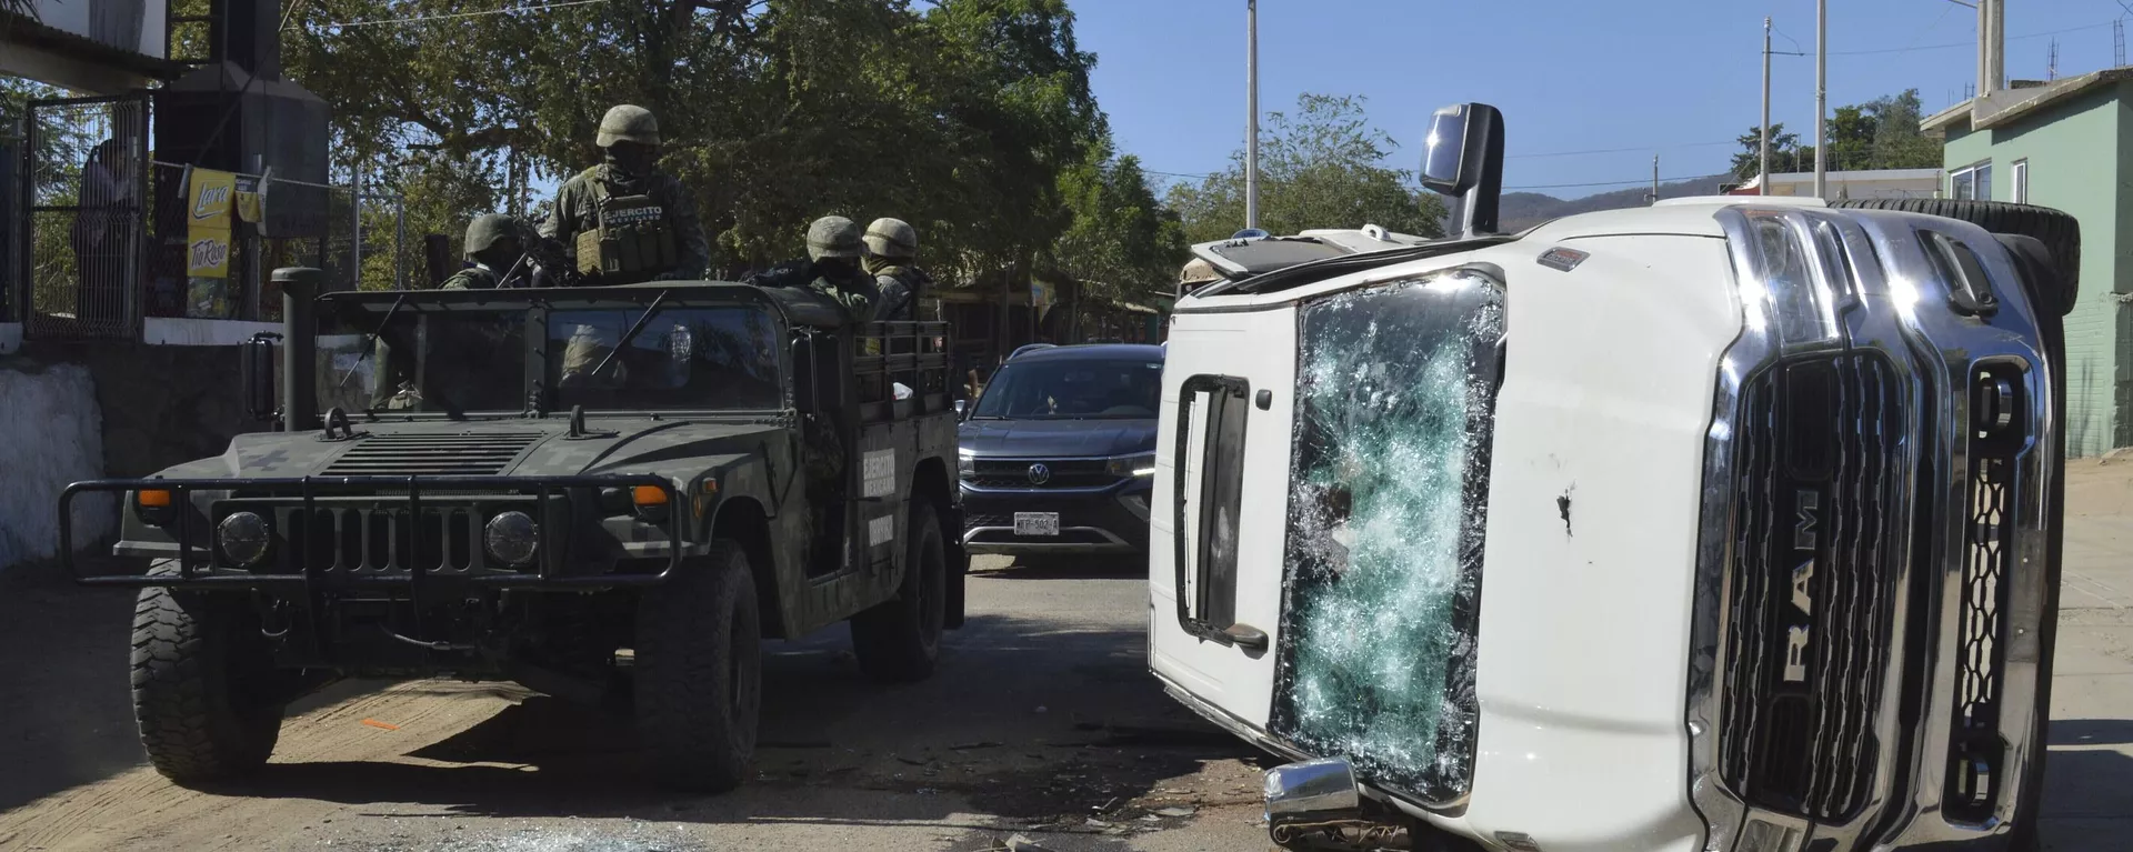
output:
[[[523,412],[525,325],[525,305],[450,312],[399,305],[324,316],[318,410]]]

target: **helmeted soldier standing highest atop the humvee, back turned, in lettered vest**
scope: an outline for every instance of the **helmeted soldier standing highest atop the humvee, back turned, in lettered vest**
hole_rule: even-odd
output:
[[[621,105],[599,120],[606,162],[563,182],[540,235],[561,241],[587,284],[704,278],[710,243],[695,201],[659,171],[659,122]]]

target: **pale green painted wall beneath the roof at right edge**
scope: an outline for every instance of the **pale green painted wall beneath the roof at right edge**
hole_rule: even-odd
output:
[[[2082,222],[2082,295],[2067,316],[2067,453],[2101,455],[2133,444],[2133,312],[2112,295],[2133,284],[2120,222],[2133,222],[2133,92],[2127,83],[1982,132],[1947,132],[1947,171],[1992,162],[1992,199],[2014,201],[2014,162],[2028,160],[2028,203],[2058,207]],[[1943,190],[1947,190],[1943,186]]]

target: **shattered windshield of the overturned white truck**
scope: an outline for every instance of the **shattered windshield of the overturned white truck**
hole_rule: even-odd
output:
[[[1301,314],[1271,728],[1378,784],[1457,799],[1474,760],[1502,288],[1448,271]]]

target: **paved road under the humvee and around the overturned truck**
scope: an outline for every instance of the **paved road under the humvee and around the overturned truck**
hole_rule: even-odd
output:
[[[1261,758],[1145,673],[1126,566],[981,559],[941,677],[879,688],[836,630],[774,647],[761,775],[638,782],[627,724],[514,688],[348,683],[243,786],[141,769],[124,594],[0,577],[0,850],[1265,850]],[[2071,472],[2046,837],[2133,837],[2133,463]],[[1186,814],[1190,816],[1162,816]],[[1094,820],[1094,822],[1090,822]]]

